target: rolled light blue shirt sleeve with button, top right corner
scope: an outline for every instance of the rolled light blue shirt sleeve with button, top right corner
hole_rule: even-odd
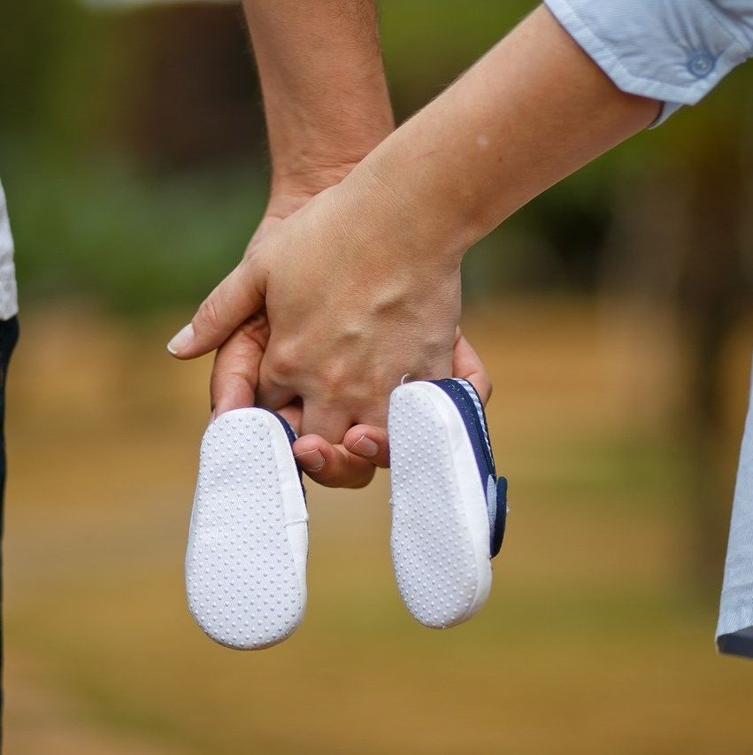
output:
[[[753,0],[544,0],[619,89],[696,104],[753,57]]]

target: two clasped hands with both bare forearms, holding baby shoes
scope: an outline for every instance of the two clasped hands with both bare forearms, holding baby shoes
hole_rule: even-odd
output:
[[[244,5],[271,201],[241,264],[168,348],[218,349],[215,414],[282,413],[313,479],[358,487],[388,465],[403,375],[465,377],[488,399],[457,331],[465,250],[661,104],[620,91],[539,6],[393,131],[374,4]]]

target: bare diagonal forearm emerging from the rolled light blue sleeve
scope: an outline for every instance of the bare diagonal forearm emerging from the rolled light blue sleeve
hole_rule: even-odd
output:
[[[444,249],[454,264],[534,196],[649,125],[658,109],[619,91],[539,8],[357,173],[415,219],[427,252]]]

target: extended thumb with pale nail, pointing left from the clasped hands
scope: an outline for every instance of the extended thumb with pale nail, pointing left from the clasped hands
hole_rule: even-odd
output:
[[[264,294],[254,281],[248,259],[204,299],[193,320],[173,335],[167,351],[179,359],[193,359],[217,349],[264,306]]]

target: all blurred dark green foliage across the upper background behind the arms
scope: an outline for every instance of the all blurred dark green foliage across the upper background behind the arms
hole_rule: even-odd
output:
[[[385,0],[399,119],[438,94],[534,3]],[[263,115],[239,6],[95,10],[5,0],[0,175],[25,300],[93,297],[118,311],[189,305],[233,266],[263,212]],[[465,265],[466,298],[591,290],[615,197],[699,155],[736,159],[750,73],[529,204]],[[724,165],[724,163],[722,163]],[[732,189],[731,189],[732,190]]]

